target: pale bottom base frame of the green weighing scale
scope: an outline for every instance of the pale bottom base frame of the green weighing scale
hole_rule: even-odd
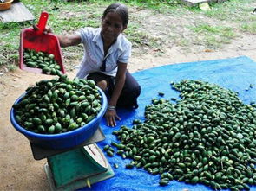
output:
[[[105,172],[102,172],[97,175],[91,175],[87,179],[77,180],[77,181],[73,182],[73,184],[66,186],[65,188],[56,188],[51,170],[49,169],[48,163],[44,164],[43,169],[46,173],[46,176],[47,176],[47,179],[49,182],[49,188],[51,191],[75,190],[75,189],[80,189],[80,188],[82,188],[82,190],[91,190],[89,188],[88,181],[90,184],[94,184],[99,181],[104,181],[104,180],[111,178],[112,176],[115,175],[113,169],[108,164],[107,171],[105,171]]]

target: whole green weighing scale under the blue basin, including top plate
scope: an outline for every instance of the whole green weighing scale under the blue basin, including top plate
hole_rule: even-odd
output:
[[[115,175],[102,150],[96,145],[104,139],[98,127],[92,137],[69,150],[50,150],[33,143],[30,146],[36,160],[47,158],[44,171],[51,190],[86,189]]]

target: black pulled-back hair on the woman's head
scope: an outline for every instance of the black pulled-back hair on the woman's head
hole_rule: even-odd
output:
[[[102,19],[105,18],[105,16],[107,16],[107,14],[110,13],[110,12],[115,12],[119,16],[121,16],[123,26],[128,25],[129,16],[128,16],[128,7],[126,5],[121,4],[121,3],[110,4],[106,8],[106,10],[104,10]]]

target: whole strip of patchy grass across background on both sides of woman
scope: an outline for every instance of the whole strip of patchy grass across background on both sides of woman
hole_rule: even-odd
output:
[[[233,41],[236,33],[256,34],[256,16],[251,14],[254,1],[229,0],[224,3],[211,3],[212,10],[202,11],[198,7],[182,5],[181,0],[121,0],[121,3],[127,4],[129,10],[132,10],[128,29],[124,34],[134,48],[144,50],[165,49],[169,43],[184,46],[187,51],[193,45],[221,48]],[[43,10],[49,13],[48,26],[55,34],[72,35],[83,27],[100,27],[102,12],[110,3],[115,1],[23,0],[23,4],[35,16],[35,21],[0,22],[0,66],[18,63],[20,31],[36,24]],[[144,15],[137,14],[137,10]],[[158,16],[165,16],[167,19],[158,21]],[[171,22],[168,22],[168,18]],[[148,21],[149,19],[153,21]],[[148,26],[152,23],[156,26]],[[157,24],[161,27],[157,28]],[[182,34],[184,30],[185,35]],[[161,32],[164,35],[157,35]],[[65,59],[73,62],[81,60],[83,50],[79,46],[62,48],[62,52]]]

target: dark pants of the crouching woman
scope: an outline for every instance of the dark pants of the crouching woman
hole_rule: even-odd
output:
[[[106,92],[107,96],[111,97],[114,87],[115,87],[115,77],[108,76],[104,73],[89,73],[88,80],[94,80],[97,84],[99,81],[106,80],[108,91]],[[135,78],[127,71],[125,83],[122,88],[120,97],[117,101],[117,107],[126,107],[126,108],[138,108],[137,98],[141,94],[141,86],[135,80]]]

